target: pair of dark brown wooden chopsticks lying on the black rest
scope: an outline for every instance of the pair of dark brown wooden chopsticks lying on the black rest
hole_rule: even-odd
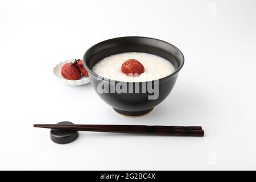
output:
[[[35,124],[34,127],[58,130],[96,131],[109,133],[204,137],[204,130],[201,126]]]

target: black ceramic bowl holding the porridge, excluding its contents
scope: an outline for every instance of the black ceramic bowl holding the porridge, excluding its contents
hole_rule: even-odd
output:
[[[92,71],[93,65],[104,57],[123,52],[146,52],[161,56],[174,65],[175,72],[151,83],[135,83],[109,80],[107,78],[100,77]],[[139,36],[127,36],[105,40],[92,46],[85,52],[83,63],[89,73],[90,81],[98,96],[100,96],[107,104],[112,106],[118,113],[135,116],[150,112],[168,96],[174,87],[180,69],[183,67],[184,56],[178,48],[170,43],[164,42],[163,40]],[[118,82],[119,84],[123,84],[121,88],[123,90],[127,89],[127,92],[111,92],[110,88],[112,86],[117,86]],[[155,92],[149,92],[148,89],[146,93],[142,92],[143,86],[148,86],[150,84],[152,85],[152,89],[155,89]],[[104,86],[101,87],[101,85]],[[135,93],[136,86],[138,86],[137,88],[140,90],[139,93]],[[105,89],[106,92],[102,93],[102,90],[99,90],[98,88]],[[156,98],[157,88],[158,97]],[[148,96],[155,99],[148,99]]]

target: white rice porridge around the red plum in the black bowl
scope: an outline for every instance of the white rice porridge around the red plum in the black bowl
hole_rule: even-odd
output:
[[[128,76],[121,71],[122,64],[129,59],[142,63],[144,73],[139,76]],[[174,65],[163,57],[143,52],[118,53],[98,61],[92,71],[98,75],[117,81],[139,82],[152,81],[171,75],[175,72]]]

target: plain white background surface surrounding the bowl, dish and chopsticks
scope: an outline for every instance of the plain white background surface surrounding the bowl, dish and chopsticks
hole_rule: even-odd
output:
[[[256,169],[256,1],[0,1],[0,169]],[[55,64],[118,36],[180,48],[152,113],[123,117]],[[33,123],[199,125],[204,138],[86,133],[60,145]]]

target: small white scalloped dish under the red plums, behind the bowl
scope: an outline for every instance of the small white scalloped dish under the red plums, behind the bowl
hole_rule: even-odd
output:
[[[75,59],[71,59],[71,60],[66,60],[63,61],[59,64],[57,64],[54,68],[53,68],[53,73],[56,77],[59,78],[59,80],[61,80],[62,82],[64,82],[64,84],[68,84],[68,85],[72,85],[72,86],[80,86],[80,85],[86,85],[89,84],[90,79],[88,76],[82,76],[79,80],[67,80],[66,78],[64,78],[61,75],[61,68],[63,67],[63,65],[65,63],[69,63],[69,62],[74,62]]]

